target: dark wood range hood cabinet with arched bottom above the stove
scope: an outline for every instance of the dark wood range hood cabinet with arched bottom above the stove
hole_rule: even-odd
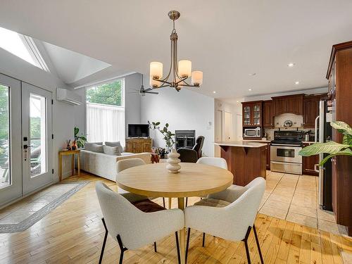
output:
[[[303,94],[272,97],[274,103],[274,115],[283,113],[294,113],[303,115]]]

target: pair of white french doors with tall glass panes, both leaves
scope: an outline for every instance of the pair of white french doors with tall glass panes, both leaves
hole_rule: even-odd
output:
[[[51,92],[0,74],[0,206],[53,181]]]

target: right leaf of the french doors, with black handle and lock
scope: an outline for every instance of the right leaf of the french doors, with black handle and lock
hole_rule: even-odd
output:
[[[23,194],[53,181],[51,92],[22,84]]]

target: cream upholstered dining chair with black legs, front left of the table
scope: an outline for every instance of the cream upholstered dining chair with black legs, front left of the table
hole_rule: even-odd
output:
[[[184,227],[182,210],[166,210],[157,203],[145,200],[143,196],[141,200],[141,196],[132,193],[118,194],[103,182],[97,182],[95,189],[103,213],[102,221],[105,228],[99,264],[103,259],[108,234],[120,246],[119,263],[122,264],[123,254],[128,249],[139,249],[152,242],[156,246],[155,241],[172,233],[175,233],[177,258],[180,263],[177,230]]]

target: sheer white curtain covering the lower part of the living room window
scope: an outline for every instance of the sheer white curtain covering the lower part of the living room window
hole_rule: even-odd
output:
[[[87,141],[125,145],[125,107],[87,103]]]

